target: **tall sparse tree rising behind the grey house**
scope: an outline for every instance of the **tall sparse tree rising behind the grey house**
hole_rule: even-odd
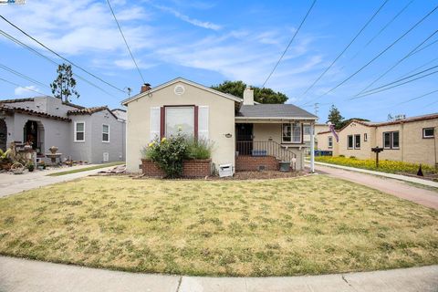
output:
[[[62,101],[70,101],[69,98],[75,95],[79,97],[78,91],[75,89],[76,80],[73,78],[73,71],[71,65],[62,64],[57,67],[57,78],[50,84],[52,94],[55,98],[62,99]]]

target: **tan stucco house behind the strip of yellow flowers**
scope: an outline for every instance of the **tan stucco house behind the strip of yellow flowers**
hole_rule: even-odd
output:
[[[435,165],[437,127],[438,113],[385,122],[351,120],[338,131],[339,143],[333,140],[332,133],[319,133],[318,149],[332,150],[334,156],[373,159],[375,153],[371,148],[379,146],[383,147],[380,159]],[[331,148],[330,139],[333,141]]]

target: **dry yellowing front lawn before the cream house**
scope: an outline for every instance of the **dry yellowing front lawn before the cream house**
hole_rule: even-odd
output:
[[[421,266],[438,264],[438,212],[324,175],[90,177],[0,199],[0,254],[215,276]]]

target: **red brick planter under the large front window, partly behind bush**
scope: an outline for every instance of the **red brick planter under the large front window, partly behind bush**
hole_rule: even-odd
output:
[[[166,174],[158,167],[155,162],[151,160],[141,160],[141,172],[147,176],[165,177]],[[183,177],[205,177],[212,174],[212,160],[211,159],[195,159],[183,162]]]

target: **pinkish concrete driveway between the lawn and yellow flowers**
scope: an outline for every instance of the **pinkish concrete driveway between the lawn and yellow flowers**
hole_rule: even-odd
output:
[[[415,187],[405,182],[393,180],[387,177],[378,177],[366,172],[351,172],[338,167],[315,164],[315,171],[326,173],[353,183],[360,183],[383,193],[390,193],[401,199],[420,203],[426,207],[438,210],[438,192]]]

